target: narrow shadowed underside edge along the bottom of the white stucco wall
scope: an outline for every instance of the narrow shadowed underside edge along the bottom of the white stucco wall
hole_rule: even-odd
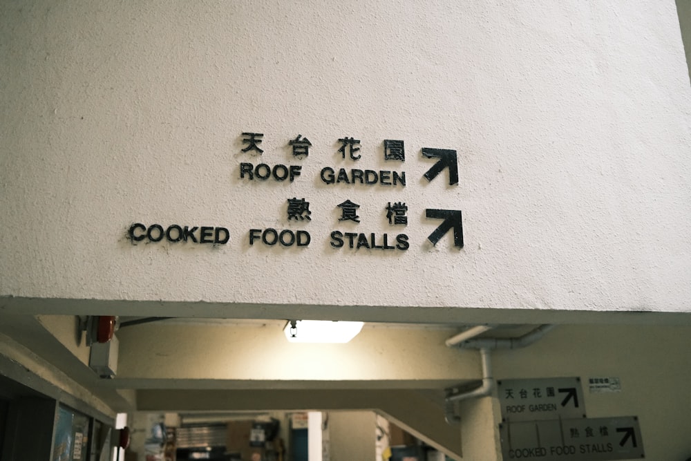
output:
[[[691,325],[685,312],[623,310],[556,310],[529,308],[469,308],[467,306],[390,306],[254,304],[202,301],[133,301],[0,296],[3,314],[123,315],[131,317],[196,317],[208,319],[313,319],[368,322],[446,323],[605,323],[630,325]]]

